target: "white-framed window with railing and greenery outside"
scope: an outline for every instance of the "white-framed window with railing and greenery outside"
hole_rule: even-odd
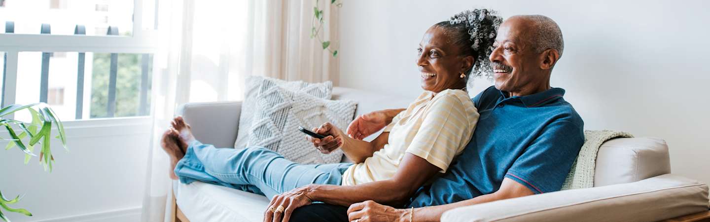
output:
[[[10,81],[0,85],[2,105],[46,102],[62,121],[150,115],[160,41],[146,14],[157,12],[143,11],[136,26],[132,17],[155,0],[48,0],[44,9],[0,1],[11,1],[0,8],[0,78]],[[50,15],[33,17],[38,11]]]

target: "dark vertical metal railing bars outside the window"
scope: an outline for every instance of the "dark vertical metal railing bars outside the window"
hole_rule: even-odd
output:
[[[5,23],[5,33],[14,33],[14,22],[6,21]],[[48,23],[43,23],[41,27],[40,34],[50,35],[51,26]],[[75,26],[74,35],[86,36],[86,28],[82,25]],[[109,26],[107,31],[107,36],[118,36],[119,29],[116,26]],[[76,95],[76,114],[75,119],[83,119],[84,112],[84,75],[86,70],[86,52],[79,51],[77,58],[77,95]],[[40,71],[40,102],[48,102],[48,90],[49,90],[49,67],[50,67],[50,57],[53,52],[43,52],[42,53],[42,65]],[[138,92],[138,110],[137,115],[149,115],[150,109],[148,105],[148,88],[150,81],[148,79],[148,70],[150,68],[151,54],[141,53],[141,78],[140,78],[140,88]],[[118,65],[119,65],[119,53],[111,53],[110,56],[110,66],[109,66],[109,87],[108,87],[108,102],[107,102],[107,116],[114,117],[116,114],[116,80],[118,77]],[[3,80],[2,85],[5,85],[6,75],[7,75],[7,57],[3,57]],[[4,91],[5,89],[3,89]],[[5,105],[6,98],[5,93],[0,98],[0,104]]]

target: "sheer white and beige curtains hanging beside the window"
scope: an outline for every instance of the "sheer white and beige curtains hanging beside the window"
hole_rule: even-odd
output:
[[[155,55],[153,139],[148,150],[142,221],[173,221],[175,203],[168,156],[160,136],[185,102],[241,100],[244,78],[337,85],[338,61],[310,38],[316,0],[159,2],[163,51]],[[337,7],[318,1],[325,16],[321,38],[338,48]]]

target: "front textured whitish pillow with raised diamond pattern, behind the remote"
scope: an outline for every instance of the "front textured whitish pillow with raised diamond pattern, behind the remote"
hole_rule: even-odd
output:
[[[342,159],[342,150],[321,154],[298,131],[331,122],[345,129],[353,120],[357,102],[324,100],[265,84],[256,97],[256,110],[249,128],[249,146],[266,147],[300,164],[332,164]]]

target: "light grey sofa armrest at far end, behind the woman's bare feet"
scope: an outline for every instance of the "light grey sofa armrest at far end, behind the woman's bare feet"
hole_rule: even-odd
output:
[[[200,142],[214,147],[234,147],[241,101],[188,102],[178,107],[177,113],[185,118]]]

